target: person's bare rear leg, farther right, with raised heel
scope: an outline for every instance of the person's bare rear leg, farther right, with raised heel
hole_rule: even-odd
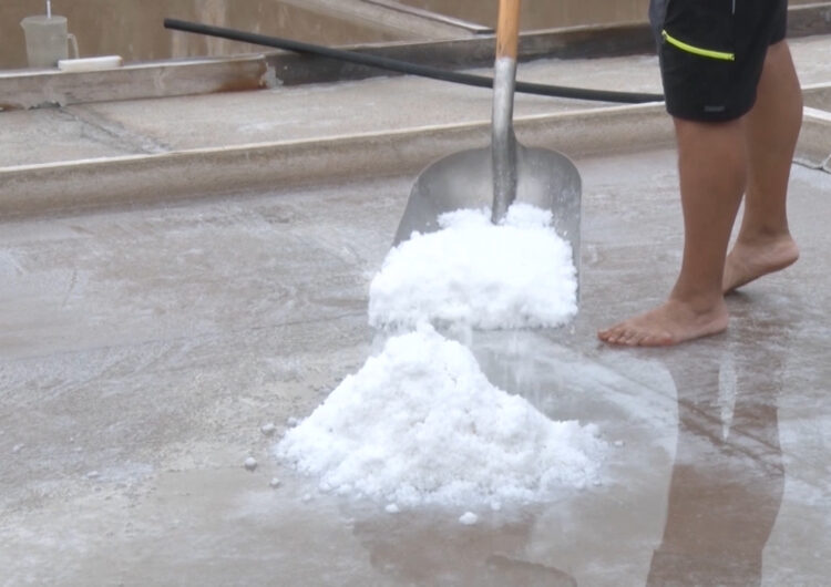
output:
[[[786,199],[802,124],[802,93],[784,41],[768,49],[757,102],[746,120],[748,190],[741,228],[725,265],[725,292],[799,258],[788,230]]]

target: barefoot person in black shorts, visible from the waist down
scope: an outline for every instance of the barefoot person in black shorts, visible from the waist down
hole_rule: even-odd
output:
[[[678,141],[684,256],[665,303],[598,332],[613,344],[666,346],[721,332],[725,291],[799,255],[786,213],[802,114],[784,41],[787,1],[654,0],[650,14]],[[742,194],[745,216],[728,256]]]

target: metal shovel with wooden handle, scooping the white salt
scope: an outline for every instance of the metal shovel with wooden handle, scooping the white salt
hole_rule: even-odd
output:
[[[453,153],[419,175],[394,245],[413,231],[438,230],[438,217],[460,208],[491,205],[491,220],[499,224],[517,200],[552,212],[552,225],[572,245],[579,271],[579,173],[561,153],[521,145],[513,131],[520,2],[500,0],[491,146]]]

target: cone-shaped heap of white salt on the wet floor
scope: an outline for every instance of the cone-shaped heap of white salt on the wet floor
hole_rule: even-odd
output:
[[[339,494],[416,505],[544,501],[594,480],[593,425],[554,422],[493,387],[430,326],[390,338],[276,446]]]

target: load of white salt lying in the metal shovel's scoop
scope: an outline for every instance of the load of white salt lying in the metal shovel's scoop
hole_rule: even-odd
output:
[[[388,254],[370,285],[371,326],[546,328],[577,312],[572,248],[550,210],[514,204],[496,226],[486,209],[462,209],[439,223],[443,229],[416,233]]]

